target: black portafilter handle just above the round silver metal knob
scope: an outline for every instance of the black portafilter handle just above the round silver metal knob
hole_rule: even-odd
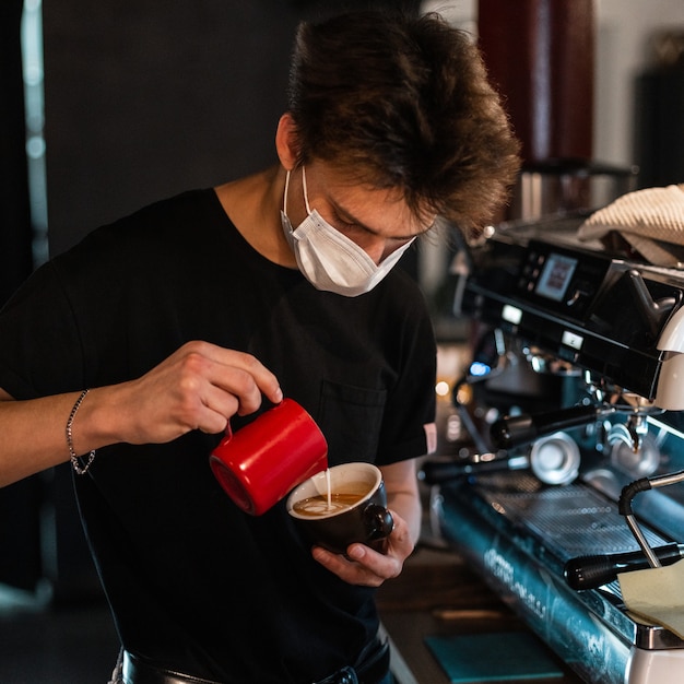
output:
[[[529,444],[542,435],[551,435],[570,427],[587,425],[610,412],[612,409],[589,404],[534,415],[506,416],[492,424],[490,436],[494,448],[512,449]]]

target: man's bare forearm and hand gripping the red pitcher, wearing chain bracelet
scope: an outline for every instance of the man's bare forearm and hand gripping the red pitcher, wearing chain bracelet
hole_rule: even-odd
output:
[[[0,486],[69,460],[67,421],[80,393],[14,401],[0,389]],[[73,417],[73,449],[217,434],[235,413],[253,413],[262,393],[282,399],[278,379],[253,356],[188,342],[141,378],[92,389]]]

